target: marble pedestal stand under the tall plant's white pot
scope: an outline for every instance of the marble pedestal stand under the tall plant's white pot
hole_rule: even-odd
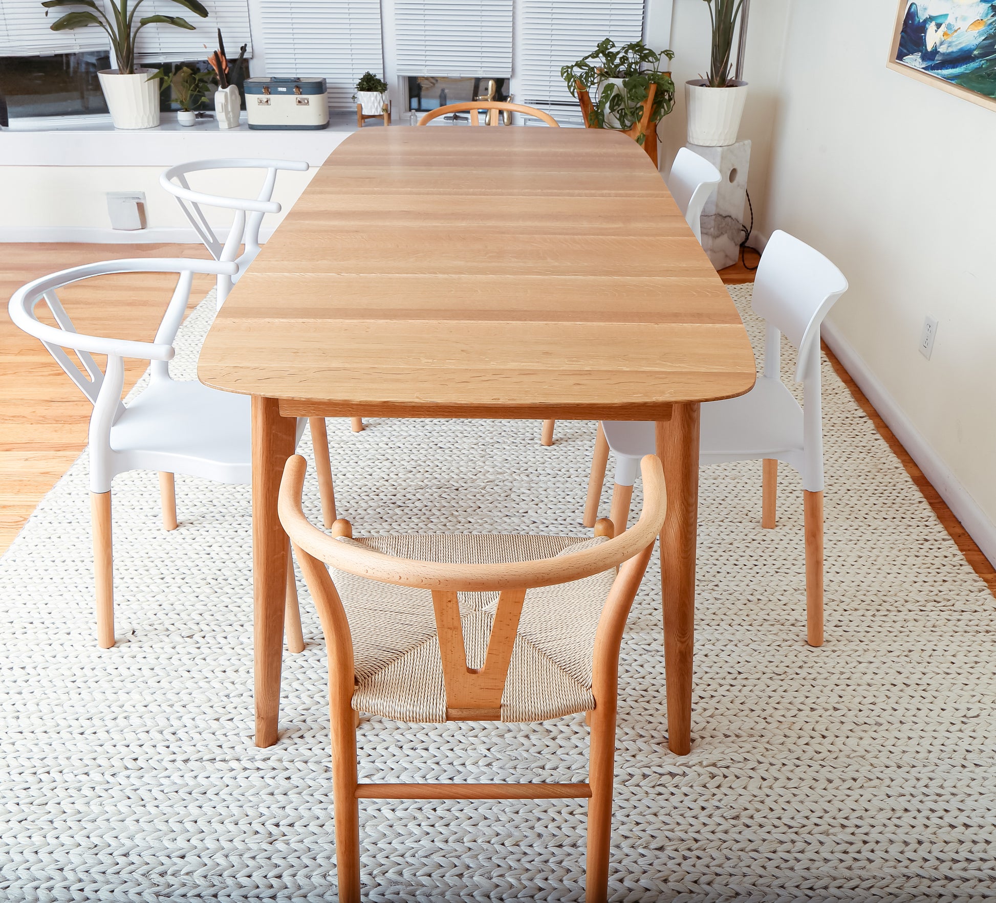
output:
[[[743,241],[744,204],[747,201],[747,171],[750,141],[723,147],[687,144],[689,150],[715,166],[722,180],[702,210],[702,248],[717,270],[731,267],[740,257]]]

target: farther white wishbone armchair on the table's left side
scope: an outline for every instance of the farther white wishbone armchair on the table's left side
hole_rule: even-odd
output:
[[[194,191],[187,181],[187,176],[191,173],[213,173],[219,169],[265,169],[266,176],[263,179],[263,186],[255,198],[227,197],[223,194]],[[232,286],[239,281],[249,264],[256,259],[262,250],[259,243],[259,229],[263,223],[263,217],[267,213],[279,213],[281,210],[279,202],[273,200],[273,188],[277,182],[277,172],[282,169],[307,172],[309,166],[304,160],[260,160],[232,157],[218,160],[193,160],[178,166],[170,166],[159,175],[159,184],[163,190],[176,198],[176,203],[180,205],[183,215],[189,220],[211,257],[223,262],[232,261],[238,267],[234,275],[227,273],[218,275],[218,290],[215,301],[219,311],[232,291]],[[218,238],[217,233],[208,222],[201,205],[235,211],[228,236],[224,242]],[[241,253],[240,249],[242,249]],[[317,421],[320,418],[312,417],[311,419],[312,438],[318,442],[319,433],[325,435],[325,422],[323,420],[319,425]],[[353,432],[359,433],[363,430],[362,417],[352,417],[350,422]]]

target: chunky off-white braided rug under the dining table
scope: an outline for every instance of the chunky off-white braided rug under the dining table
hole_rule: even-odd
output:
[[[732,291],[757,341],[750,288]],[[179,376],[213,309],[184,325]],[[763,531],[760,462],[703,469],[693,748],[665,746],[655,556],[622,643],[612,899],[996,898],[993,597],[826,361],[823,379],[827,643],[805,643],[796,475],[782,468]],[[355,435],[332,420],[339,510],[358,535],[584,536],[594,435],[560,422],[543,448],[538,422],[373,419]],[[285,654],[281,739],[258,750],[248,488],[177,478],[166,533],[155,474],[115,481],[119,642],[100,650],[86,473],[82,458],[0,562],[0,896],[335,899],[325,652],[304,583],[308,648]],[[320,523],[314,470],[308,492]],[[582,716],[365,718],[359,743],[366,781],[586,774]],[[365,894],[580,900],[585,811],[364,800]]]

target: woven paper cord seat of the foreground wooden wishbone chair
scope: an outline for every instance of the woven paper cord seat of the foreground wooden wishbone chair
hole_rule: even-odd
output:
[[[384,555],[429,562],[500,564],[568,555],[604,543],[552,536],[436,534],[349,540]],[[393,586],[332,569],[354,637],[353,708],[395,721],[444,722],[446,691],[432,598],[426,589]],[[592,650],[616,568],[530,589],[512,648],[501,700],[502,721],[544,721],[588,711]],[[497,592],[461,592],[467,663],[482,667]]]

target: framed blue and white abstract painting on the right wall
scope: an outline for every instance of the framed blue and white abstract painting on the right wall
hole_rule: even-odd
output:
[[[996,2],[899,0],[887,65],[996,110]]]

